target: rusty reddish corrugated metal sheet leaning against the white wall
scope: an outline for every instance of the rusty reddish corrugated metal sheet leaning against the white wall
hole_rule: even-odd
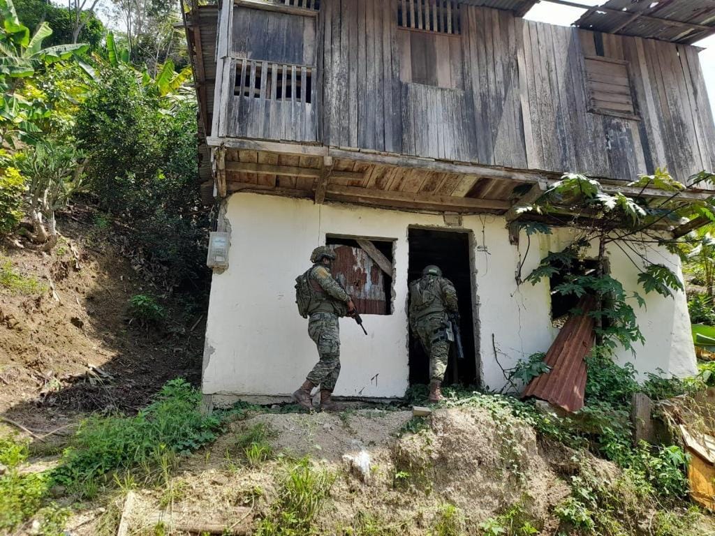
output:
[[[546,400],[569,412],[581,410],[586,391],[586,362],[583,359],[591,352],[594,339],[593,318],[585,313],[594,307],[595,298],[581,299],[578,309],[584,314],[568,319],[546,352],[544,362],[551,367],[551,372],[531,380],[523,397]]]

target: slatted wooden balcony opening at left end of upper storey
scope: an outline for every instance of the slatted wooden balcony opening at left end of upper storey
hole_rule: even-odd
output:
[[[235,96],[272,101],[312,102],[312,68],[239,60],[236,66]]]

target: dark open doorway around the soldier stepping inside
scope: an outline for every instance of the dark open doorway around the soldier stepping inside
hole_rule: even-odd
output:
[[[456,358],[454,344],[452,344],[445,384],[476,385],[478,367],[475,356],[473,312],[475,294],[472,289],[470,234],[457,231],[409,229],[408,242],[410,283],[422,277],[425,266],[436,264],[442,269],[444,277],[450,279],[457,289],[464,359]],[[429,363],[429,357],[425,354],[422,344],[410,334],[410,385],[429,383]]]

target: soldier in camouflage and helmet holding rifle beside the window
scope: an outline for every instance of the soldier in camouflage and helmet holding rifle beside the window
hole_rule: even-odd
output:
[[[335,402],[330,397],[340,374],[340,325],[337,319],[355,312],[352,299],[330,274],[334,259],[335,252],[329,247],[317,247],[310,255],[313,267],[307,277],[313,299],[308,307],[308,335],[317,346],[320,360],[307,375],[305,383],[293,393],[293,399],[306,409],[312,408],[310,392],[320,385],[320,408],[335,410]]]

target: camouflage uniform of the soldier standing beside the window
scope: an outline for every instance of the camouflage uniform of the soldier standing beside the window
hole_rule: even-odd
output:
[[[340,324],[337,319],[347,313],[350,296],[332,278],[325,264],[312,267],[309,281],[315,300],[308,309],[308,335],[317,346],[320,361],[307,375],[307,380],[332,392],[340,374]]]

